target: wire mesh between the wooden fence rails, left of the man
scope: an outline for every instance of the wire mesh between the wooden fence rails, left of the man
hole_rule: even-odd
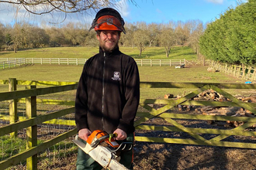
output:
[[[48,96],[49,97],[49,96]],[[19,121],[25,121],[26,118],[26,104],[23,100],[18,101],[17,114]],[[56,105],[56,104],[36,104],[36,114],[44,115],[50,114],[54,111],[63,110],[71,106]],[[37,124],[37,144],[48,141],[59,134],[64,134],[75,128],[74,125],[64,125],[61,121],[74,121],[74,113],[67,114],[62,117],[58,117],[54,122],[44,122],[43,124]],[[9,102],[0,102],[0,128],[5,125],[9,125]],[[26,128],[17,132],[17,138],[10,138],[9,134],[0,137],[0,162],[17,155],[26,150]],[[57,143],[38,155],[38,169],[55,169],[60,168],[60,165],[67,158],[76,158],[77,147],[71,141],[73,138],[66,139]],[[72,155],[72,156],[71,156]],[[74,162],[75,163],[75,162]],[[73,164],[74,167],[74,164]],[[1,168],[0,168],[1,169]],[[20,162],[19,165],[12,166],[8,169],[26,169],[26,160]]]

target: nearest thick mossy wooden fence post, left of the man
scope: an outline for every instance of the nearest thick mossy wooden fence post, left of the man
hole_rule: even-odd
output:
[[[26,86],[26,89],[35,89],[36,86]],[[36,96],[26,97],[26,117],[36,117]],[[37,126],[26,128],[26,148],[33,148],[37,145]],[[26,169],[37,169],[37,154],[26,159]]]

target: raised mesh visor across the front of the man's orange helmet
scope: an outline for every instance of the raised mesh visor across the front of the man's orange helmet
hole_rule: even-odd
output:
[[[112,15],[103,15],[99,17],[96,22],[92,23],[92,27],[89,29],[89,31],[91,29],[95,29],[95,31],[114,30],[123,32],[124,34],[126,33],[122,22],[120,22],[119,19],[116,19],[116,17]]]

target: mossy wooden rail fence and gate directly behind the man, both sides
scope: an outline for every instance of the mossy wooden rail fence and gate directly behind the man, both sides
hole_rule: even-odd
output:
[[[74,127],[70,131],[57,135],[57,137],[45,141],[40,145],[37,145],[37,124],[66,124],[75,125],[73,120],[60,120],[58,117],[62,117],[66,114],[74,113],[74,101],[67,100],[48,100],[37,99],[36,97],[41,95],[48,95],[52,93],[61,93],[69,90],[76,90],[76,82],[43,82],[43,81],[25,81],[25,80],[0,80],[0,84],[9,84],[9,91],[0,93],[0,102],[9,102],[9,115],[1,115],[0,119],[6,120],[9,124],[0,128],[0,137],[4,135],[10,135],[12,138],[16,138],[16,133],[20,129],[26,129],[26,150],[19,152],[17,155],[13,155],[10,158],[6,158],[0,162],[1,168],[9,168],[12,165],[16,165],[22,160],[26,159],[27,169],[36,169],[37,154],[46,150],[51,145],[57,144],[66,138],[74,137],[77,133]],[[26,90],[17,90],[17,85],[26,86]],[[36,86],[47,87],[36,88]],[[48,87],[50,86],[50,87]],[[178,99],[140,99],[140,109],[137,112],[136,121],[134,125],[140,133],[136,134],[135,140],[141,142],[157,142],[157,143],[170,143],[170,144],[182,144],[182,145],[209,145],[220,147],[232,147],[232,148],[256,148],[255,140],[247,141],[230,141],[227,140],[230,136],[243,136],[245,138],[256,137],[255,131],[248,131],[256,124],[256,104],[241,101],[227,93],[230,89],[244,89],[254,90],[256,84],[242,84],[242,83],[173,83],[173,82],[141,82],[141,88],[167,88],[167,89],[195,89],[191,93],[188,93],[184,97]],[[226,97],[227,101],[200,101],[193,100],[199,93],[204,90],[214,90],[216,93],[220,93],[223,97]],[[25,98],[25,99],[24,99]],[[17,103],[26,103],[26,117],[17,116]],[[62,104],[69,105],[70,107],[63,110],[58,110],[48,114],[37,115],[36,104]],[[232,116],[213,116],[202,114],[188,114],[174,112],[178,105],[190,105],[190,106],[213,106],[213,107],[241,107],[251,112],[252,117],[232,117]],[[157,107],[155,107],[157,106]],[[166,124],[150,124],[150,120],[154,118],[161,118]],[[180,120],[186,121],[242,121],[244,124],[237,128],[223,128],[218,129],[211,128],[190,128],[180,123]],[[156,137],[149,136],[147,132],[157,131],[161,133],[185,133],[188,134],[188,138],[169,138],[169,137]],[[206,136],[206,134],[209,134]]]

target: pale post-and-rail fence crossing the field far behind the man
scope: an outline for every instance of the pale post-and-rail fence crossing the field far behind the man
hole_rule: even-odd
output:
[[[82,66],[86,60],[74,58],[0,58],[0,70],[34,64]],[[182,68],[185,66],[203,65],[209,66],[208,71],[220,71],[243,80],[256,80],[256,71],[254,71],[253,66],[228,65],[227,63],[218,63],[209,59],[135,59],[135,61],[138,66],[175,66],[175,68]]]

